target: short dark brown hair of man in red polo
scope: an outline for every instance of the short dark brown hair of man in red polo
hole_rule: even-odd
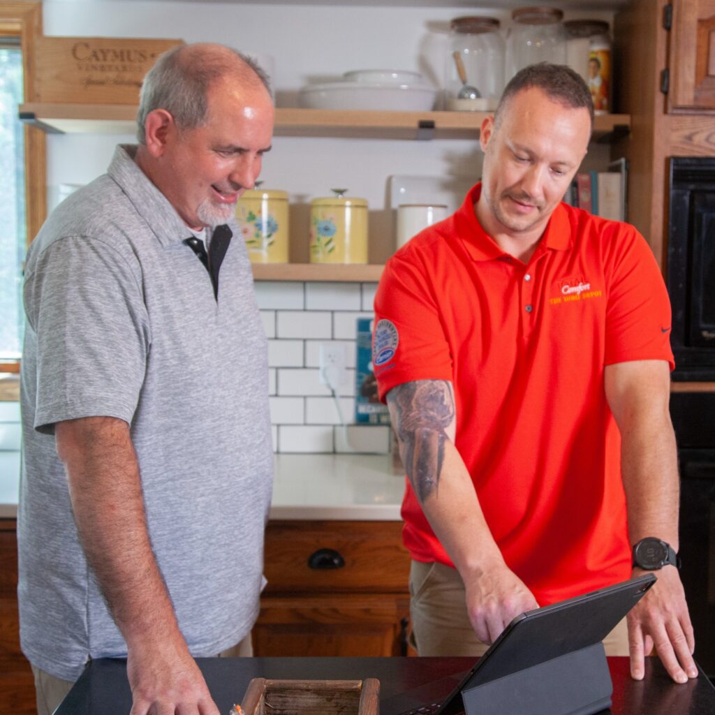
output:
[[[588,109],[593,127],[593,99],[588,84],[578,72],[565,64],[539,62],[520,69],[509,81],[494,112],[494,126],[498,127],[509,100],[522,89],[541,89],[556,102],[572,109]]]

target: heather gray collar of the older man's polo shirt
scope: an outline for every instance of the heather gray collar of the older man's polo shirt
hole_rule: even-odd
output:
[[[137,213],[157,237],[159,244],[167,247],[181,243],[191,235],[189,227],[169,203],[169,199],[152,184],[142,169],[139,169],[134,162],[136,154],[136,144],[119,144],[114,150],[107,174],[127,195]]]

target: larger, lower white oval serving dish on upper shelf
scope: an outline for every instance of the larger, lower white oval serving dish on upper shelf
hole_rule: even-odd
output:
[[[426,85],[327,82],[300,90],[298,102],[308,109],[391,109],[428,112],[437,90]]]

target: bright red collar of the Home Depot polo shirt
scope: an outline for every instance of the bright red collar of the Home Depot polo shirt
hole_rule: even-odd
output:
[[[479,182],[473,186],[461,207],[455,212],[455,233],[458,235],[467,249],[472,260],[488,261],[506,256],[495,240],[482,228],[475,204],[482,191],[482,184]],[[566,250],[571,245],[571,222],[568,220],[568,213],[563,204],[558,204],[554,209],[551,218],[548,220],[546,230],[539,241],[537,250]]]

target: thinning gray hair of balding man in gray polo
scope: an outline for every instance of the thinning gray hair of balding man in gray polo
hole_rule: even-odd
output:
[[[245,65],[247,73],[242,72]],[[173,47],[157,59],[139,92],[137,139],[147,143],[144,122],[154,109],[165,109],[179,130],[201,127],[207,118],[207,92],[218,80],[234,74],[250,82],[250,74],[271,92],[270,79],[250,56],[230,47],[194,44]]]

